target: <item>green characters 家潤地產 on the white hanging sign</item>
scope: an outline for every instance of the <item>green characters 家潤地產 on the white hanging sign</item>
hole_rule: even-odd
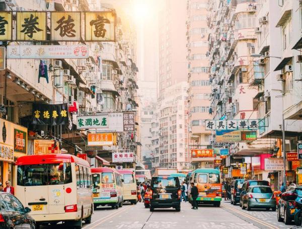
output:
[[[77,129],[108,128],[108,114],[77,116]]]

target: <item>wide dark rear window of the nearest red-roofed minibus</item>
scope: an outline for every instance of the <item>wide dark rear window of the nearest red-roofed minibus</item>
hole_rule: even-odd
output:
[[[71,182],[70,163],[18,166],[17,184],[20,186],[63,185]]]

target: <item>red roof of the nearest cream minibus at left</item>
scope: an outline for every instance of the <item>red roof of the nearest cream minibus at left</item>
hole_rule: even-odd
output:
[[[57,163],[77,163],[90,168],[90,164],[81,158],[70,154],[44,154],[44,155],[28,155],[17,159],[17,166],[39,165],[39,164],[57,164]]]

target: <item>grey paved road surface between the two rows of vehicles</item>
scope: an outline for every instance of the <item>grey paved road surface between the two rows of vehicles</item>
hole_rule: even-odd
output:
[[[266,210],[242,210],[239,205],[233,206],[223,201],[219,208],[199,206],[192,210],[189,203],[182,203],[181,211],[159,209],[150,212],[142,203],[124,205],[114,209],[102,207],[95,211],[91,224],[85,229],[123,229],[123,228],[290,228],[277,221],[276,212]],[[63,226],[43,226],[43,229],[59,229]]]

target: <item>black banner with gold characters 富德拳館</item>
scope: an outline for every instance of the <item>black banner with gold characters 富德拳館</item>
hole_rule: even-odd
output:
[[[68,123],[67,103],[33,104],[34,125],[65,125]]]

